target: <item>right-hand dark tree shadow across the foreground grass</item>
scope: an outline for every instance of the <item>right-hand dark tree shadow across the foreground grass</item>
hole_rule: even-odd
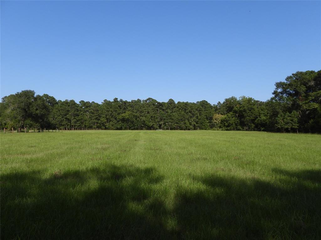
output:
[[[272,184],[255,178],[195,177],[204,188],[181,189],[176,196],[174,212],[181,237],[320,239],[321,171],[286,173],[301,180],[281,176]]]

